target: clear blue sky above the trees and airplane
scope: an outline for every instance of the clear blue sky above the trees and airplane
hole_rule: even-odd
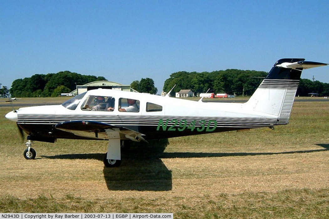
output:
[[[0,83],[71,71],[158,93],[177,71],[329,63],[329,1],[0,0]],[[302,78],[329,83],[329,67]]]

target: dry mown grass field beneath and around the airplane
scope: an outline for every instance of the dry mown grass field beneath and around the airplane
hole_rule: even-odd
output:
[[[23,158],[0,108],[0,212],[173,212],[174,218],[329,218],[329,102],[295,102],[290,124],[134,144],[34,142]]]

